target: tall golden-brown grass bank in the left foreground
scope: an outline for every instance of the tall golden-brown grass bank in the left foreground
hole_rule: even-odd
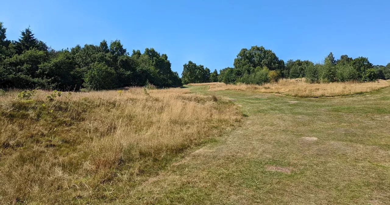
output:
[[[0,201],[69,203],[137,183],[241,119],[237,107],[187,89],[0,96]],[[128,185],[127,185],[128,186]],[[112,190],[111,190],[112,191]]]

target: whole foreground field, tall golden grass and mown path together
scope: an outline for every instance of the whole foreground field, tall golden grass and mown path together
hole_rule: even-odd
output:
[[[296,98],[212,86],[0,97],[0,201],[390,204],[390,87]]]

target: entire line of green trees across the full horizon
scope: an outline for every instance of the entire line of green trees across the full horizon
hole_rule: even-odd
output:
[[[189,61],[183,65],[182,77],[173,72],[166,54],[153,48],[129,54],[120,40],[108,44],[76,45],[54,50],[34,37],[27,28],[20,39],[6,38],[0,22],[0,88],[79,90],[113,89],[126,86],[179,87],[188,83],[224,82],[263,84],[279,78],[306,78],[309,83],[373,81],[390,79],[390,63],[374,66],[366,57],[355,59],[342,55],[335,60],[332,53],[321,63],[279,59],[263,46],[243,48],[233,67],[218,73]]]

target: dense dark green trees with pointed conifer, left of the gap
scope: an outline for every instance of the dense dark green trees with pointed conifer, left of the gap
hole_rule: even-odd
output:
[[[99,45],[54,50],[35,38],[30,28],[18,41],[8,40],[0,22],[0,87],[99,90],[147,82],[157,87],[182,85],[168,56],[153,48],[143,53],[133,50],[130,55],[120,40],[110,44],[103,40]]]

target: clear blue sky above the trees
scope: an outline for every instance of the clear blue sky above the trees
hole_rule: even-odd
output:
[[[0,21],[16,40],[30,25],[57,50],[119,39],[131,52],[167,53],[181,74],[193,61],[212,71],[232,66],[241,48],[273,50],[280,59],[321,61],[365,56],[390,62],[388,0],[2,1]]]

